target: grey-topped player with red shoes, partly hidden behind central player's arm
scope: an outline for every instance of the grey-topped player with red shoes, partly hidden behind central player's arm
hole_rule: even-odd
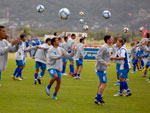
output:
[[[76,35],[75,34],[72,34],[71,37],[68,39],[67,41],[67,50],[68,50],[68,53],[71,53],[72,52],[72,48],[74,46],[74,40],[76,39]],[[70,58],[69,59],[70,61],[70,75],[74,76],[74,60],[73,58]]]

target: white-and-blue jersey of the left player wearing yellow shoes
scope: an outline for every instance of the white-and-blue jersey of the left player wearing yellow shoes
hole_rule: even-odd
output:
[[[24,60],[25,59],[25,48],[26,48],[26,44],[23,41],[20,41],[19,43],[19,49],[16,52],[16,60]]]

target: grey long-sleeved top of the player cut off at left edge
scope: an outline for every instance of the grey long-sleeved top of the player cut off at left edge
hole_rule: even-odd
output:
[[[7,40],[0,40],[0,72],[5,71],[8,62],[8,52],[16,52],[18,46],[12,46]]]

